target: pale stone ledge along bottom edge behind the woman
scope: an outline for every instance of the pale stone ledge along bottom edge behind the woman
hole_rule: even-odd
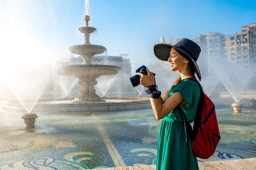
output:
[[[256,169],[256,158],[199,162],[200,170],[241,170]],[[156,165],[100,168],[93,170],[155,170]]]

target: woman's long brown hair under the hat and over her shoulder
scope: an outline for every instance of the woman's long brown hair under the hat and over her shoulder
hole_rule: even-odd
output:
[[[190,71],[191,73],[194,75],[196,73],[196,69],[194,67],[194,64],[192,62],[192,60],[190,59],[190,57],[188,57],[186,54],[184,54],[183,52],[179,51],[179,50],[176,50],[180,55],[182,55],[183,57],[185,57],[188,61],[189,61],[189,68],[190,68]],[[173,85],[177,85],[179,82],[181,81],[181,77],[180,75],[178,76],[178,78],[175,80],[175,82],[173,83]],[[169,93],[170,93],[170,90],[167,90],[167,91],[164,91],[163,92],[163,95],[162,95],[162,104],[168,99],[168,96],[169,96]]]

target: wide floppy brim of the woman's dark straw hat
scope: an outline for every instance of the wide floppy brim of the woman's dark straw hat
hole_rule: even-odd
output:
[[[172,48],[175,48],[175,49],[179,50],[180,52],[184,53],[185,55],[187,55],[191,59],[191,61],[194,64],[194,67],[195,67],[195,70],[196,70],[196,73],[197,73],[197,77],[198,77],[199,81],[201,81],[201,73],[199,71],[199,67],[197,65],[197,62],[194,61],[194,59],[190,56],[190,54],[188,54],[184,50],[180,49],[179,47],[174,46],[174,45],[170,45],[170,44],[166,44],[166,43],[156,44],[156,45],[154,45],[154,54],[159,60],[168,61]]]

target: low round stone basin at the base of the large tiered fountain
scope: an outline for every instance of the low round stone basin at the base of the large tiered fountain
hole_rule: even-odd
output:
[[[149,98],[123,97],[104,98],[104,102],[72,102],[72,100],[39,101],[33,108],[33,113],[87,113],[115,112],[151,108]],[[3,109],[15,112],[26,112],[19,102],[9,102]]]

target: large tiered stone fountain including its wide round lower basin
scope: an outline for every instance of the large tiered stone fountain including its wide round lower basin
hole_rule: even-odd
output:
[[[89,1],[87,2],[89,3]],[[86,14],[88,14],[87,7],[88,6],[86,4]],[[85,27],[79,28],[78,31],[84,34],[85,43],[82,45],[74,45],[69,47],[69,51],[71,53],[78,54],[83,57],[83,64],[57,66],[55,69],[55,71],[60,76],[72,76],[78,78],[78,84],[81,85],[80,93],[73,100],[68,100],[67,98],[58,100],[40,100],[35,103],[33,107],[31,107],[30,111],[33,111],[33,113],[92,113],[150,108],[151,105],[148,98],[101,98],[96,94],[96,91],[94,89],[94,86],[97,85],[96,79],[100,76],[117,74],[118,70],[120,70],[121,68],[113,65],[92,64],[92,57],[94,55],[104,53],[104,51],[106,51],[106,48],[99,45],[91,45],[90,33],[93,33],[94,31],[96,31],[96,29],[93,27],[89,27],[89,15],[85,15],[84,20]],[[128,81],[129,77],[127,77],[127,82]],[[70,84],[70,86],[73,85]],[[105,86],[107,86],[107,83],[105,83]],[[4,106],[4,109],[23,112],[25,104],[21,105],[18,102],[9,102],[6,106]]]

